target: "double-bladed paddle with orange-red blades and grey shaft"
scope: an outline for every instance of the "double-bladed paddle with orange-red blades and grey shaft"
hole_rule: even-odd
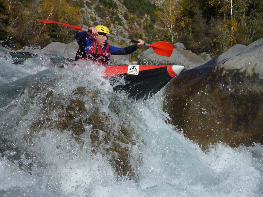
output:
[[[55,24],[60,24],[60,25],[66,25],[66,26],[68,26],[70,28],[77,29],[79,31],[91,32],[90,29],[85,29],[85,28],[82,28],[82,27],[78,27],[78,26],[75,26],[75,25],[69,25],[69,24],[66,24],[66,23],[60,23],[60,22],[57,22],[57,21],[54,21],[54,20],[39,20],[39,21],[42,22],[42,23],[55,23]],[[119,36],[116,36],[116,35],[106,34],[104,32],[98,32],[98,34],[105,35],[105,36],[112,37],[112,38],[116,38],[116,39],[119,39],[119,40],[128,41],[128,42],[139,43],[137,40],[131,40],[131,39],[128,39],[128,38],[122,38],[122,37],[119,37]],[[157,53],[158,55],[166,56],[166,57],[170,57],[171,54],[173,53],[173,49],[174,49],[174,45],[172,45],[170,43],[167,43],[167,42],[163,42],[163,41],[159,41],[159,42],[156,42],[154,44],[147,44],[147,43],[145,43],[144,45],[152,47],[155,53]]]

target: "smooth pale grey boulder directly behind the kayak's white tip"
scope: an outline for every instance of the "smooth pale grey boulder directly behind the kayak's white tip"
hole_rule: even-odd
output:
[[[185,68],[190,67],[190,61],[178,50],[173,50],[170,57],[156,54],[152,48],[147,49],[138,59],[138,64],[147,65],[182,65]]]

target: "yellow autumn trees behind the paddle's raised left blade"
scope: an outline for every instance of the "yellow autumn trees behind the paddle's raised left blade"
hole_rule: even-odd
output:
[[[63,25],[44,25],[39,19],[59,20],[80,24],[80,9],[66,0],[46,0],[22,4],[14,0],[0,0],[0,32],[2,45],[9,47],[40,45],[52,41],[64,42],[74,37],[75,31]]]

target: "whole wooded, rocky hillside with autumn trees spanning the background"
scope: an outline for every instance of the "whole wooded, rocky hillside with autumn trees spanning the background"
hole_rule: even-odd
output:
[[[217,55],[262,38],[262,13],[262,0],[0,0],[0,40],[16,49],[72,42],[77,30],[38,21],[52,19],[86,28],[102,24],[117,36],[182,42],[197,54]]]

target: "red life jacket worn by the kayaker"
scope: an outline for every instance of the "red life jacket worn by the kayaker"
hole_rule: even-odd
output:
[[[87,52],[87,54],[84,52],[84,49],[79,48],[75,60],[90,59],[98,63],[107,64],[110,60],[110,45],[106,43],[106,49],[103,52],[97,39],[92,38],[92,36],[89,36],[88,38],[92,40],[93,47]]]

